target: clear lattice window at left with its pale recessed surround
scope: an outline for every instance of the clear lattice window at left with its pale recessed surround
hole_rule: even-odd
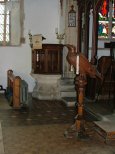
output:
[[[0,46],[19,46],[23,37],[24,0],[0,0]]]

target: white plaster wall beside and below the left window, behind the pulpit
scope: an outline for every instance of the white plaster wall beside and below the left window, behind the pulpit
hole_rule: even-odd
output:
[[[57,43],[55,28],[58,23],[59,0],[24,0],[25,21],[24,36],[26,43],[20,47],[0,47],[0,84],[7,86],[7,70],[14,70],[29,85],[33,91],[34,79],[31,77],[31,49],[28,32],[43,34],[46,40],[43,43]]]

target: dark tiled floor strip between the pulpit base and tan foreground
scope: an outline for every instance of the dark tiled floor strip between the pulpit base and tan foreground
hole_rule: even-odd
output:
[[[0,110],[2,126],[29,126],[41,124],[66,124],[74,122],[74,108],[66,108],[61,101],[32,100],[28,108]]]

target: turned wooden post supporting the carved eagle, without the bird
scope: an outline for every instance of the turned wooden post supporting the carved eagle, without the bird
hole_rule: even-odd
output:
[[[87,84],[86,75],[80,74],[75,78],[76,92],[78,95],[78,108],[77,108],[77,117],[75,121],[75,127],[77,131],[78,137],[83,137],[85,134],[85,126],[84,126],[84,93],[85,86]]]

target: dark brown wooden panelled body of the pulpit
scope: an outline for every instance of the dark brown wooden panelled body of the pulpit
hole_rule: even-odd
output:
[[[42,49],[32,51],[32,73],[61,74],[62,73],[61,44],[43,44]]]

